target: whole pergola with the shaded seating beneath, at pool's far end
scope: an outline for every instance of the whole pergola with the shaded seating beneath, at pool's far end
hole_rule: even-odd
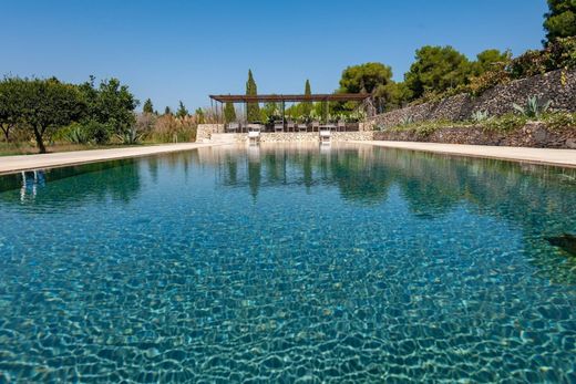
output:
[[[369,110],[370,103],[370,94],[366,93],[335,93],[335,94],[268,94],[268,95],[210,95],[210,102],[216,102],[216,116],[218,122],[225,124],[224,132],[225,133],[248,133],[257,129],[258,132],[271,132],[271,133],[306,133],[306,132],[315,132],[319,133],[320,131],[325,132],[354,132],[359,131],[359,122],[358,121],[344,121],[341,116],[337,118],[329,117],[329,103],[335,102],[357,102],[358,107],[364,107],[364,110]],[[325,114],[322,118],[312,118],[312,116],[302,116],[302,118],[292,118],[286,116],[286,103],[312,103],[321,102],[323,103]],[[224,104],[233,103],[240,104],[244,106],[244,113],[240,114],[241,118],[236,122],[224,121]],[[260,121],[247,121],[247,110],[250,104],[260,104],[260,103],[277,103],[280,105],[280,116],[275,116],[277,118],[260,122]],[[318,117],[318,114],[317,116]]]

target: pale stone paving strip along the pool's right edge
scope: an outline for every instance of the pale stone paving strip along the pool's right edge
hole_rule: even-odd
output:
[[[354,144],[408,151],[429,152],[459,157],[493,158],[498,160],[576,168],[576,149],[532,148],[422,142],[354,141]]]

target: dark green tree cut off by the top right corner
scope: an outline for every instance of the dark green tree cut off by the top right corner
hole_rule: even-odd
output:
[[[548,0],[544,29],[548,42],[576,35],[576,0]]]

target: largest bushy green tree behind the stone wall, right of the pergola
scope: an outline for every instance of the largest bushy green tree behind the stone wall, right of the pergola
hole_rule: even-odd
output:
[[[471,63],[465,55],[450,45],[425,45],[416,50],[415,62],[404,74],[404,81],[412,96],[424,93],[440,93],[467,82]]]

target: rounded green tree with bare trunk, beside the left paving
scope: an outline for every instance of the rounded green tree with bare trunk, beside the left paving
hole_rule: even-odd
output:
[[[18,115],[22,126],[34,135],[40,153],[45,153],[49,129],[68,125],[82,117],[85,104],[78,86],[56,79],[12,79],[17,89]]]

